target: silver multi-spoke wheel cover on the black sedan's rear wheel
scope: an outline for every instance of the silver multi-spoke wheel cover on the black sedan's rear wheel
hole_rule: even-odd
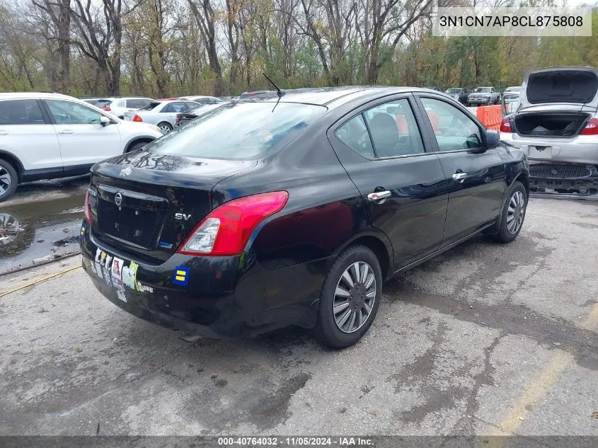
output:
[[[376,276],[367,263],[353,263],[336,285],[333,315],[336,326],[344,333],[359,330],[372,314],[376,299]]]

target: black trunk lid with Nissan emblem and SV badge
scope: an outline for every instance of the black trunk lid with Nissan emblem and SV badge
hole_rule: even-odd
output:
[[[212,188],[256,161],[139,151],[93,167],[94,236],[154,262],[167,260],[212,211]]]

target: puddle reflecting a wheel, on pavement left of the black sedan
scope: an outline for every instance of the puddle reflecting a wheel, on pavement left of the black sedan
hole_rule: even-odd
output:
[[[67,197],[0,204],[0,274],[33,260],[79,250],[84,192]]]

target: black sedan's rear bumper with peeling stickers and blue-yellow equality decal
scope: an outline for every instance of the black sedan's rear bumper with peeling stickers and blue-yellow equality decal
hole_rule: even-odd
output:
[[[318,272],[325,260],[270,271],[246,253],[176,254],[151,265],[97,241],[85,222],[81,229],[83,267],[93,285],[113,304],[146,321],[210,338],[314,326],[323,284]]]

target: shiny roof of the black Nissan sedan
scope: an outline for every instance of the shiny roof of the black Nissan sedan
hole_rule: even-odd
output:
[[[284,95],[280,98],[281,103],[305,103],[314,105],[324,105],[328,108],[333,108],[335,105],[340,105],[345,99],[361,98],[364,96],[380,96],[392,95],[393,93],[409,93],[409,92],[430,92],[439,93],[427,88],[420,87],[395,87],[395,86],[344,86],[344,87],[322,87],[322,88],[297,88],[284,91]],[[268,91],[270,95],[241,98],[239,103],[263,103],[276,102],[278,100],[276,91]]]

